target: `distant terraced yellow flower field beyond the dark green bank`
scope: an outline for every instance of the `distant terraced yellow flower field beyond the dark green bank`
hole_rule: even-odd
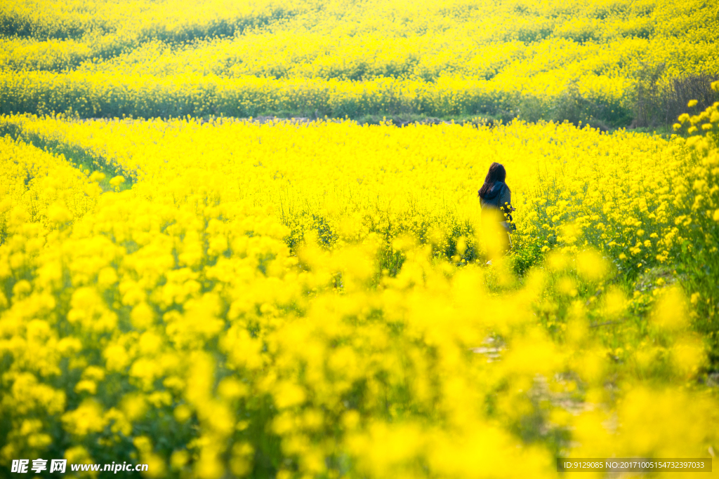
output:
[[[6,2],[0,113],[670,124],[702,100],[685,98],[692,79],[719,79],[718,13],[704,0]]]

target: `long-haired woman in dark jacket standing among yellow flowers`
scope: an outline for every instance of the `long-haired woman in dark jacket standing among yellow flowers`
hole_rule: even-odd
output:
[[[487,233],[487,253],[492,264],[494,256],[500,256],[512,247],[509,232],[513,229],[511,213],[512,192],[506,185],[507,171],[497,162],[490,164],[485,183],[477,192],[482,205],[482,227]]]

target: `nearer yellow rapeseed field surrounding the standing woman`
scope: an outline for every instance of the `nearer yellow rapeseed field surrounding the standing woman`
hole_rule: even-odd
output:
[[[717,115],[670,141],[4,116],[0,465],[526,478],[713,456],[716,297],[680,283],[715,261]],[[492,161],[518,233],[487,267]]]

